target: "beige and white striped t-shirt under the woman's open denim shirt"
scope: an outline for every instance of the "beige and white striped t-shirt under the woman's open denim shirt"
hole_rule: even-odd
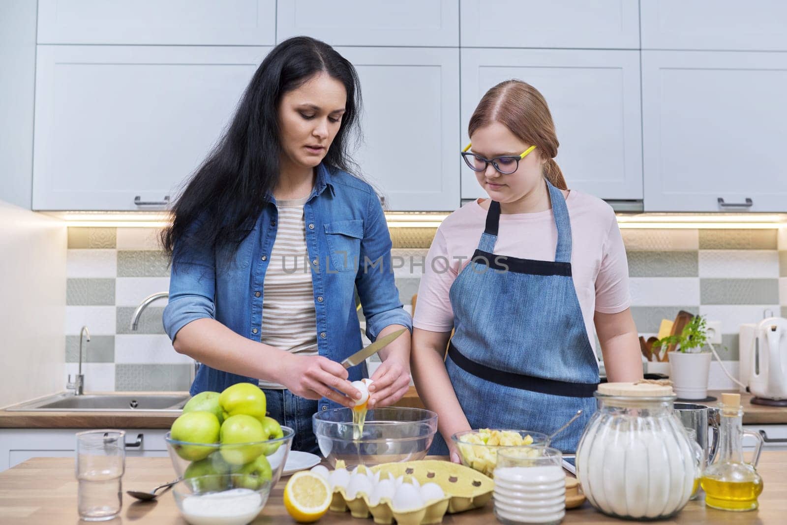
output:
[[[309,198],[278,200],[278,229],[265,272],[261,342],[299,355],[317,355],[312,271],[303,206]],[[260,379],[260,387],[284,388]]]

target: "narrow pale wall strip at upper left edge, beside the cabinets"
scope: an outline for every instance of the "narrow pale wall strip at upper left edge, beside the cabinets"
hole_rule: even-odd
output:
[[[36,2],[0,2],[0,199],[30,209]]]

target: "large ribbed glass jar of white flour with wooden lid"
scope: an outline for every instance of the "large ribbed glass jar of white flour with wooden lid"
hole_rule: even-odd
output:
[[[577,447],[577,476],[593,507],[619,518],[673,516],[701,465],[672,409],[671,386],[602,383]]]

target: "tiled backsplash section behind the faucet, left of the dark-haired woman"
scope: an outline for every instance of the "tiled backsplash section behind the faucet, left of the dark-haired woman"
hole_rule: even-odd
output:
[[[85,390],[188,390],[193,361],[176,353],[164,334],[166,301],[142,313],[137,331],[130,327],[143,298],[169,290],[156,235],[153,228],[68,228],[66,373],[76,373],[85,324],[91,332]]]

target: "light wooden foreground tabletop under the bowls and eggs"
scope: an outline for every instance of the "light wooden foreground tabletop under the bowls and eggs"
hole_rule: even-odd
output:
[[[724,512],[706,508],[704,501],[689,501],[689,505],[673,519],[664,523],[784,523],[787,513],[787,452],[764,452],[759,462],[764,490],[759,497],[759,509],[753,512]],[[175,477],[172,464],[163,457],[128,457],[123,489],[150,490]],[[283,505],[286,478],[275,486],[268,504],[253,523],[295,523]],[[36,457],[14,468],[0,472],[0,523],[49,525],[50,523],[81,523],[76,512],[76,479],[72,458]],[[443,523],[496,523],[493,503],[470,512],[446,515]],[[186,522],[168,492],[155,503],[136,502],[123,494],[120,517],[105,523],[156,523],[158,525]],[[374,523],[370,519],[353,519],[349,512],[328,512],[319,523]],[[587,502],[580,508],[567,511],[563,523],[625,523],[597,512]]]

